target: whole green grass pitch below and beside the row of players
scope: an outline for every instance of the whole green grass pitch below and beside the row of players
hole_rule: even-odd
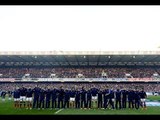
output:
[[[160,96],[150,96],[150,100],[160,100]],[[109,110],[109,109],[58,109],[27,110],[15,109],[13,101],[0,99],[0,115],[160,115],[160,107],[148,107],[147,110]]]

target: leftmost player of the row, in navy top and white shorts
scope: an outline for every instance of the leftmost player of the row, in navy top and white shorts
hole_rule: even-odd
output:
[[[14,92],[13,92],[13,98],[14,98],[14,107],[19,108],[20,106],[20,92],[19,88],[16,87]]]

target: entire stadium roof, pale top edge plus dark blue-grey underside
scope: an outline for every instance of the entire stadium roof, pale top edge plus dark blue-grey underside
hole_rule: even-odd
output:
[[[160,65],[160,51],[0,52],[0,66]]]

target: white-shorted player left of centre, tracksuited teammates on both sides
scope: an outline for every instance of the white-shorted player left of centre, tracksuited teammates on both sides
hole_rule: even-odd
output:
[[[75,108],[75,96],[76,96],[76,91],[75,88],[72,87],[70,90],[70,108]]]

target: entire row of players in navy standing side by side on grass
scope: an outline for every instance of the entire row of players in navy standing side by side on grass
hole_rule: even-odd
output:
[[[21,87],[14,91],[15,107],[27,108],[111,108],[111,109],[124,109],[124,108],[142,108],[146,109],[145,99],[147,95],[142,89],[138,90],[125,90],[125,89],[97,89],[92,87],[86,90],[82,87],[80,90],[77,88],[59,89],[50,87],[43,89],[36,86],[34,89],[27,89]],[[127,104],[128,103],[128,104]]]

